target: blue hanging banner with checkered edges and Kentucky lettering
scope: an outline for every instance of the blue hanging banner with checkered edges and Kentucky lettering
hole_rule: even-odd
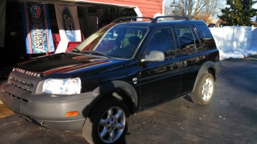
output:
[[[21,3],[27,53],[53,52],[47,4]]]

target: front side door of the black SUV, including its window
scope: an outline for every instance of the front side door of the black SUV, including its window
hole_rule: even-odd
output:
[[[164,99],[171,99],[179,92],[181,83],[180,59],[171,28],[156,30],[146,46],[145,54],[162,51],[164,61],[149,62],[141,69],[140,106],[144,107]]]

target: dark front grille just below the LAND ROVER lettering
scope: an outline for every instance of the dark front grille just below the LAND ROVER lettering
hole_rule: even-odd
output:
[[[26,81],[23,81],[23,80],[14,78],[14,77],[11,77],[9,81],[13,86],[15,86],[19,89],[23,89],[28,92],[32,92],[32,90],[33,90],[33,84],[28,83]]]

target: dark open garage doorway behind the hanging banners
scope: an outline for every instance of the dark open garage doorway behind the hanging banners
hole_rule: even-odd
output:
[[[5,44],[0,47],[0,80],[8,77],[13,66],[28,58],[43,56],[53,53],[27,54],[26,43],[23,28],[21,1],[6,2],[6,25],[5,25]],[[60,1],[58,1],[60,3]],[[26,3],[26,2],[25,2]],[[41,4],[41,1],[29,1],[28,3]],[[44,1],[48,4],[48,13],[51,25],[54,49],[61,40],[56,11],[55,1]],[[94,33],[99,28],[111,23],[114,19],[122,16],[137,16],[134,8],[116,7],[103,4],[87,4],[87,3],[70,3],[62,2],[62,5],[76,5],[78,9],[78,17],[82,40]],[[69,44],[68,48],[74,48],[77,44]]]

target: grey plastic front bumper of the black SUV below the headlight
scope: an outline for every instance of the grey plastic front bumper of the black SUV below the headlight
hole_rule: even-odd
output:
[[[80,130],[94,104],[98,93],[77,95],[35,94],[15,87],[5,81],[0,88],[0,99],[23,118],[49,129],[62,131]],[[78,111],[76,116],[67,112]]]

